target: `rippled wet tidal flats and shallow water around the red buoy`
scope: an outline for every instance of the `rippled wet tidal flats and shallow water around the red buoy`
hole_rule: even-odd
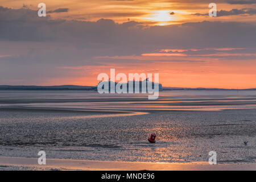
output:
[[[1,91],[0,155],[144,162],[254,162],[255,91]],[[98,113],[97,111],[101,111]],[[156,143],[147,142],[151,133]],[[249,141],[247,146],[243,142]]]

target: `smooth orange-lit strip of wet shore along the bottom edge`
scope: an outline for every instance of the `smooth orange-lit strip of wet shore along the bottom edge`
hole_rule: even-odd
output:
[[[97,160],[47,159],[39,165],[36,158],[14,158],[0,156],[1,170],[86,170],[86,171],[212,171],[212,170],[256,170],[255,163],[232,163],[210,165],[208,162],[192,163],[149,163],[112,162]]]

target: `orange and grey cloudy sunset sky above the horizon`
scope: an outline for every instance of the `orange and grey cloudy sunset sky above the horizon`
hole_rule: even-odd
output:
[[[0,0],[0,85],[97,85],[115,68],[170,87],[256,88],[256,0],[215,1],[217,17],[209,3]]]

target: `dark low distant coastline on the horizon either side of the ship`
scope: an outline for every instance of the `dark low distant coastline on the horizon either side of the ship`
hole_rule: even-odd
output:
[[[0,90],[97,90],[97,86],[80,86],[80,85],[56,85],[56,86],[35,86],[35,85],[0,85]],[[180,88],[164,87],[166,90],[256,90],[250,89],[223,89],[223,88]]]

